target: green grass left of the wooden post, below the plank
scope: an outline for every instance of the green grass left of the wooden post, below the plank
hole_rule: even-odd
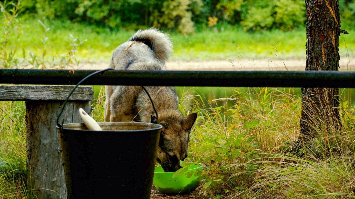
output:
[[[24,102],[0,103],[0,198],[27,197]]]

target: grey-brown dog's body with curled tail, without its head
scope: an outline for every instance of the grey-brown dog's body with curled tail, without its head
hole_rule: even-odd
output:
[[[165,61],[171,53],[172,46],[168,36],[158,29],[138,30],[128,41],[114,50],[110,60],[110,68],[116,70],[165,70]],[[147,90],[154,96],[155,100],[153,101],[158,105],[157,108],[177,108],[173,87],[148,86]],[[150,104],[146,104],[148,97],[142,91],[140,86],[107,86],[105,121],[141,120],[149,122],[146,115],[153,109]],[[163,103],[164,107],[159,106],[161,99],[167,101],[167,103]],[[137,115],[138,113],[140,114]]]

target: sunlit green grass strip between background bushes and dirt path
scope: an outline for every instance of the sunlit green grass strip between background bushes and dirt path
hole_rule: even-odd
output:
[[[70,49],[73,38],[86,42],[78,48],[76,58],[80,61],[109,61],[113,50],[125,42],[134,31],[113,31],[97,28],[92,25],[73,23],[60,20],[43,20],[50,30],[44,35],[37,19],[22,18],[23,32],[18,42],[18,47],[24,49],[24,54],[29,57],[28,51],[42,55],[41,39],[48,37],[46,43],[46,59],[66,54]],[[349,30],[349,35],[354,35],[355,30]],[[346,55],[346,47],[350,56],[355,55],[355,39],[349,35],[342,35],[339,41],[340,56]],[[184,37],[172,33],[174,52],[171,60],[206,60],[206,59],[235,59],[239,56],[245,58],[271,58],[276,54],[279,58],[304,58],[306,54],[306,30],[296,29],[288,32],[280,30],[247,33],[241,28],[229,27],[223,32],[212,29],[196,32]],[[344,42],[346,41],[346,42]],[[10,48],[14,40],[9,41]],[[277,49],[277,52],[274,50]],[[22,50],[17,55],[22,57]]]

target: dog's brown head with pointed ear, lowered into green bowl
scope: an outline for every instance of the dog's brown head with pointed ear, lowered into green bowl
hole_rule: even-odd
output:
[[[163,126],[160,133],[157,161],[165,172],[181,168],[180,160],[187,157],[189,135],[197,114],[191,113],[182,119],[181,113],[165,112],[160,114],[159,124]]]

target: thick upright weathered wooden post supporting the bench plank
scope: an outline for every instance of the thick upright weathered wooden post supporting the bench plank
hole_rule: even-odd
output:
[[[64,101],[26,102],[27,183],[37,198],[67,198],[56,117]],[[78,109],[90,113],[90,101],[69,101],[64,123],[79,123]]]

